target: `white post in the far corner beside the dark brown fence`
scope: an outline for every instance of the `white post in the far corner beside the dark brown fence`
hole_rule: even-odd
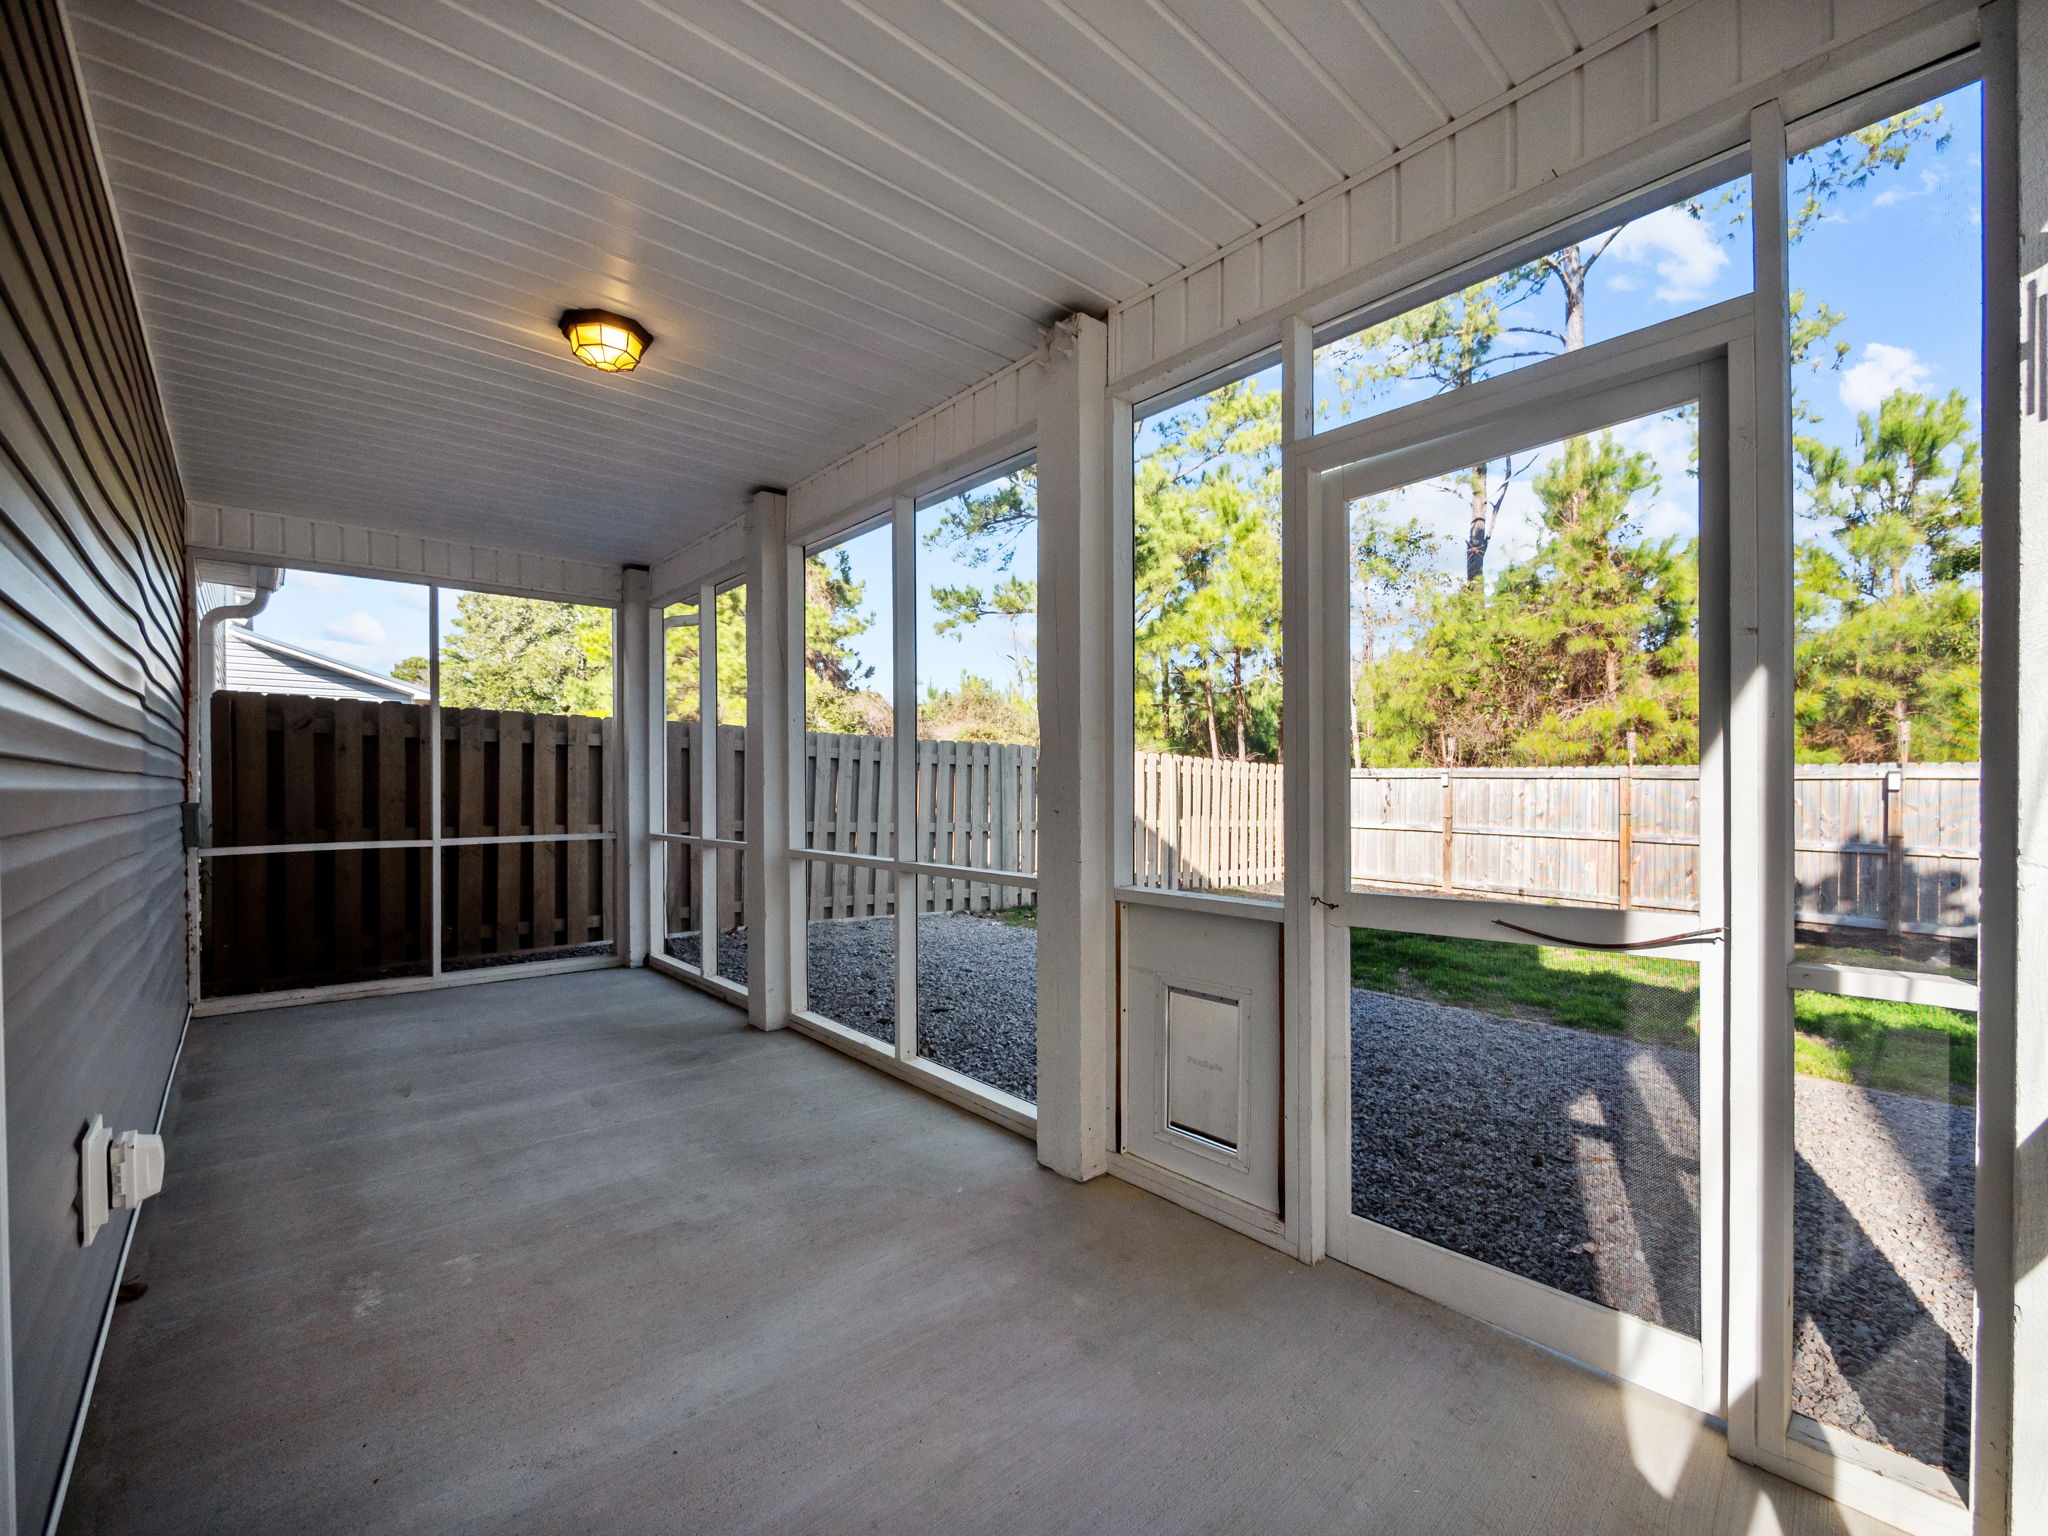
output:
[[[618,913],[612,942],[625,965],[647,965],[653,932],[653,842],[655,784],[662,754],[662,610],[649,600],[645,565],[627,565],[618,588],[616,657],[612,711],[618,715],[618,778],[612,803],[618,825],[612,827],[616,864],[612,868],[612,901]]]

